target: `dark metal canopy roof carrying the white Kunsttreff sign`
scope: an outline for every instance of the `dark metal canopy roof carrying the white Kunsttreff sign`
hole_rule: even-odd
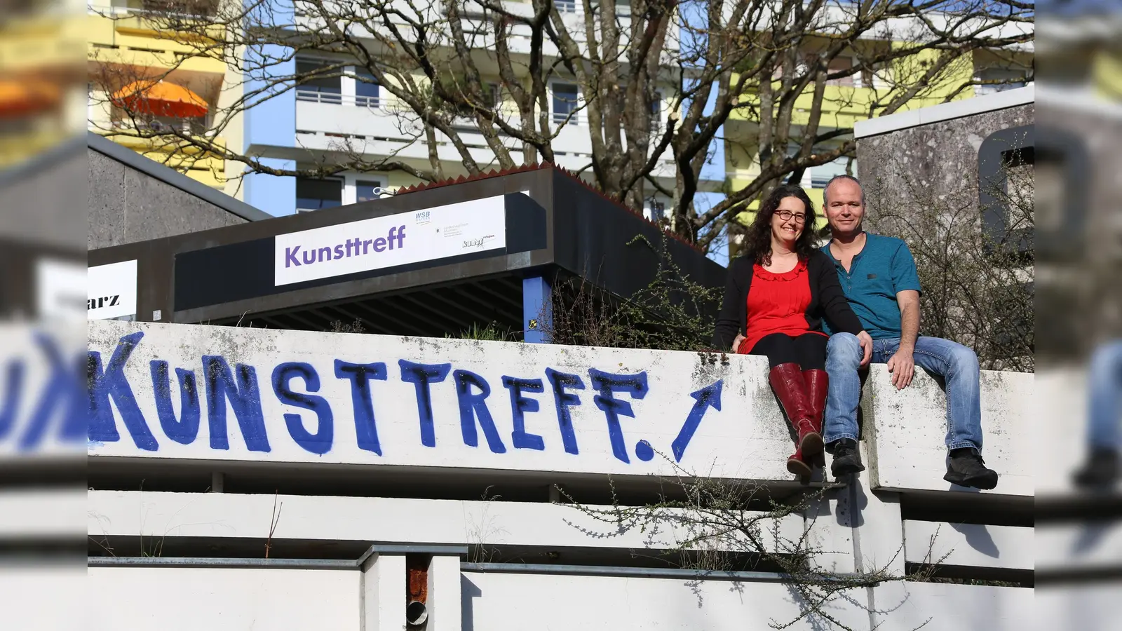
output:
[[[504,207],[505,247],[451,256],[439,252],[405,265],[300,282],[280,283],[275,268],[278,248],[294,234],[347,230],[364,220],[420,217],[430,209],[486,199]],[[91,250],[89,265],[137,260],[136,319],[141,321],[309,330],[358,321],[367,332],[426,337],[494,322],[521,339],[527,318],[536,317],[524,300],[525,278],[540,277],[546,285],[558,277],[583,278],[620,296],[650,283],[662,255],[634,243],[636,236],[665,247],[695,282],[724,285],[724,267],[551,165]]]

